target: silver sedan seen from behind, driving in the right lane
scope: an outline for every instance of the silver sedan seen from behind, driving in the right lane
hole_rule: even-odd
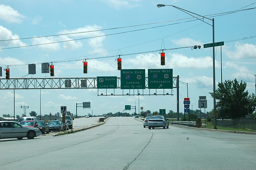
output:
[[[169,121],[164,116],[152,116],[148,120],[148,129],[161,127],[163,127],[164,129],[169,128]]]

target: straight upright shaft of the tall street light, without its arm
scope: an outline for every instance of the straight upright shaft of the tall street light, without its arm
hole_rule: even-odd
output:
[[[214,43],[214,18],[212,19],[212,43]],[[216,92],[215,92],[215,49],[212,47],[212,66],[213,66],[213,124],[214,129],[217,129],[217,120],[216,120]]]

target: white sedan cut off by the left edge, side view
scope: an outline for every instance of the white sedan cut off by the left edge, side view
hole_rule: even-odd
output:
[[[34,139],[40,135],[41,131],[37,128],[23,127],[14,121],[0,121],[0,139],[17,138],[20,140],[24,137]]]

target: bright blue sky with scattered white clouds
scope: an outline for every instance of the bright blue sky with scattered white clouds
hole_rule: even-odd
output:
[[[245,81],[246,90],[255,94],[256,9],[250,9],[256,7],[255,1],[2,0],[0,3],[3,79],[7,66],[11,78],[50,77],[50,73],[41,73],[41,64],[47,62],[54,63],[54,77],[58,78],[120,77],[115,59],[121,55],[123,69],[145,69],[146,77],[148,69],[172,68],[173,76],[179,75],[180,81],[185,83],[180,83],[180,112],[184,112],[186,83],[190,109],[198,109],[198,97],[206,96],[206,111],[211,111],[212,48],[203,48],[203,44],[212,43],[212,20],[202,22],[199,20],[202,17],[195,19],[172,6],[156,7],[156,4],[171,4],[214,18],[215,42],[224,41],[224,46],[215,47],[216,89],[221,81],[222,68],[223,81]],[[11,39],[16,40],[4,41]],[[75,39],[80,40],[68,41]],[[50,44],[37,45],[44,43]],[[201,48],[191,50],[195,45]],[[165,52],[165,66],[160,65],[159,52],[162,50]],[[84,59],[88,62],[87,74],[83,73]],[[36,74],[28,75],[28,64],[32,63],[36,64]],[[41,114],[60,112],[60,106],[67,106],[68,111],[76,113],[76,103],[83,102],[91,102],[91,109],[77,108],[78,115],[123,112],[124,105],[136,106],[138,112],[139,103],[144,111],[166,109],[167,113],[169,110],[176,112],[177,90],[172,90],[165,93],[173,96],[110,97],[97,96],[97,89],[42,89]],[[148,94],[148,89],[140,89],[140,94],[142,91]],[[0,91],[0,116],[13,115],[13,93],[13,90]],[[115,94],[122,93],[123,90],[115,89]],[[157,93],[163,92],[157,90]],[[15,115],[23,113],[20,106],[29,106],[27,114],[36,111],[39,115],[40,90],[15,90]]]

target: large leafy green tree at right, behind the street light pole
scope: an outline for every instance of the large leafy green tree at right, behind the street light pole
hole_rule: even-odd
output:
[[[224,83],[218,84],[216,90],[216,113],[217,118],[236,119],[245,117],[255,110],[255,95],[249,95],[246,89],[246,82],[225,80]],[[210,93],[213,97],[213,93]]]

